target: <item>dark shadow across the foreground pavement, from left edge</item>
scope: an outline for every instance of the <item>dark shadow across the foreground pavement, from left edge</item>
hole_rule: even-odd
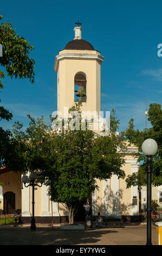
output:
[[[118,233],[103,228],[60,230],[59,227],[37,227],[36,230],[30,230],[30,227],[1,227],[1,231],[0,245],[95,245],[106,239],[105,235]]]

